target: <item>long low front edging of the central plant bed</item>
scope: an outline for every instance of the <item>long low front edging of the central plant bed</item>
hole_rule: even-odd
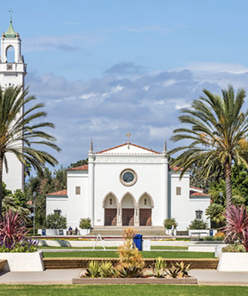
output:
[[[163,284],[163,285],[197,285],[196,278],[73,278],[73,284],[84,285],[130,285],[130,284]]]

